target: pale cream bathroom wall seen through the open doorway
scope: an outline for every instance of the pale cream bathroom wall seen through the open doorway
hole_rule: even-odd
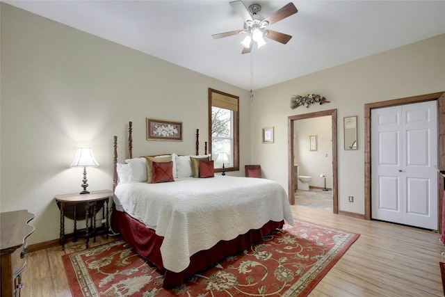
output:
[[[332,188],[332,118],[330,115],[294,122],[294,163],[300,175],[312,177],[309,186]],[[309,136],[317,136],[317,150],[309,150]]]

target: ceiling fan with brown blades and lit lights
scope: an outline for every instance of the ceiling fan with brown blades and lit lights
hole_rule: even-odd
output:
[[[273,13],[272,15],[266,17],[266,19],[259,15],[259,12],[261,11],[261,6],[259,4],[252,4],[249,6],[249,9],[245,7],[243,1],[241,0],[232,1],[229,4],[243,19],[244,29],[213,34],[211,35],[213,39],[223,38],[236,34],[246,34],[244,40],[241,42],[241,45],[243,45],[243,51],[241,52],[241,54],[250,53],[250,51],[252,51],[254,42],[257,42],[258,48],[266,45],[264,37],[280,42],[283,45],[286,45],[286,43],[291,40],[291,35],[272,31],[268,29],[268,26],[282,19],[285,19],[286,17],[296,14],[298,10],[292,2],[287,3],[285,6],[275,11],[275,13]]]

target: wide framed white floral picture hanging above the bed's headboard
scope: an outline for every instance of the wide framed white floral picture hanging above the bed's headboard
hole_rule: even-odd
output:
[[[146,118],[147,141],[182,141],[182,122]]]

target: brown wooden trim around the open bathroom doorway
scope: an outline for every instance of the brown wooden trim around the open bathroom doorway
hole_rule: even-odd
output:
[[[339,195],[338,195],[338,179],[337,179],[337,109],[330,109],[328,111],[317,111],[315,113],[305,113],[302,115],[290,115],[287,118],[287,139],[288,139],[288,191],[289,203],[295,204],[295,189],[294,175],[293,175],[293,134],[294,122],[296,120],[304,120],[308,118],[318,118],[330,115],[332,119],[332,212],[339,213]]]

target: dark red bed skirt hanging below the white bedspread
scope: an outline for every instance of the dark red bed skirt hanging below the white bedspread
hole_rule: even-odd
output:
[[[122,239],[138,252],[139,255],[147,259],[156,267],[165,271],[163,287],[170,289],[184,284],[186,278],[190,278],[193,274],[201,271],[207,266],[214,264],[220,259],[241,252],[252,244],[260,241],[271,231],[282,228],[284,220],[274,222],[270,220],[258,230],[250,230],[245,234],[238,235],[236,239],[231,241],[219,241],[216,246],[209,250],[201,250],[190,258],[190,265],[179,273],[168,271],[163,267],[161,258],[161,244],[163,236],[156,235],[154,230],[145,227],[143,223],[132,218],[122,211],[116,211],[113,206],[111,214],[111,227],[115,232],[120,232]]]

